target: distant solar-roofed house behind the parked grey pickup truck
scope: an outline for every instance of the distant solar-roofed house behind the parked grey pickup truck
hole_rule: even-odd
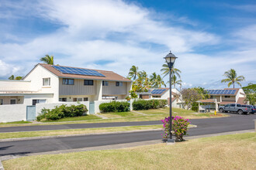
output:
[[[225,88],[223,90],[206,90],[210,98],[198,100],[199,110],[217,110],[220,105],[226,104],[247,104],[246,94],[243,89]]]

